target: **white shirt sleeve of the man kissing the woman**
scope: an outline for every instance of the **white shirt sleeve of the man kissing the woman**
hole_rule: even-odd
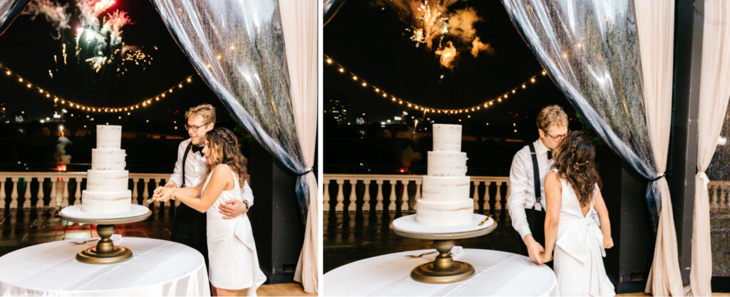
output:
[[[520,151],[521,152],[521,151]],[[520,152],[512,158],[512,167],[510,167],[510,197],[507,198],[507,209],[510,212],[512,227],[520,234],[520,239],[524,239],[527,234],[532,234],[530,226],[527,224],[527,216],[525,215],[525,199],[527,196],[527,170],[525,161],[520,158]]]

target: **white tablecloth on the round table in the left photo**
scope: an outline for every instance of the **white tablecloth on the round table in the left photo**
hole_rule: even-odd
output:
[[[48,242],[0,257],[0,296],[210,296],[203,255],[184,244],[123,237],[132,258],[114,264],[76,260],[84,239]]]

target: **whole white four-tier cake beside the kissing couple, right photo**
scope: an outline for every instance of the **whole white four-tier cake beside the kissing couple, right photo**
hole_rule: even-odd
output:
[[[434,150],[423,177],[423,197],[416,201],[415,219],[424,225],[469,225],[474,201],[469,198],[466,153],[461,152],[461,125],[434,124]]]

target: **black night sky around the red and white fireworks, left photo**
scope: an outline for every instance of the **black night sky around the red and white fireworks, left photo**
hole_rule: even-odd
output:
[[[74,17],[70,25],[72,28],[80,26],[74,4],[71,1],[61,1],[64,2],[69,3],[69,7],[74,7]],[[58,55],[59,65],[63,66],[60,63],[61,41],[53,39],[55,30],[42,15],[35,20],[31,20],[29,15],[20,15],[5,34],[0,36],[0,63],[54,95],[93,107],[119,107],[139,103],[177,85],[185,77],[193,78],[193,82],[185,85],[183,90],[175,88],[172,96],[167,96],[139,112],[131,112],[130,116],[74,112],[74,116],[88,114],[96,117],[97,123],[108,121],[110,124],[128,125],[131,121],[139,123],[150,120],[150,123],[170,122],[172,125],[173,120],[182,123],[185,110],[197,104],[210,103],[224,110],[218,98],[198,77],[188,58],[174,42],[150,1],[120,0],[109,12],[116,9],[128,12],[133,22],[124,27],[123,42],[126,45],[137,45],[153,57],[151,66],[147,66],[145,70],[132,67],[126,74],[117,76],[115,67],[105,66],[101,73],[92,74],[88,71],[88,66],[76,66],[69,58],[67,71],[50,78],[48,71],[55,67],[53,55]],[[69,45],[67,52],[72,55],[72,41]],[[37,92],[31,92],[24,85],[20,85],[14,75],[13,77],[13,80],[9,80],[6,75],[0,77],[0,101],[6,103],[7,115],[23,110],[29,115],[28,120],[37,120],[60,109],[61,104],[54,107],[53,101]],[[69,113],[73,112],[72,109],[67,110]],[[118,119],[119,115],[123,115],[122,120]],[[155,126],[150,128],[154,130]]]

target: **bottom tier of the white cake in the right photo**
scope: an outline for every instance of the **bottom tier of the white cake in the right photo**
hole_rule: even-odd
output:
[[[456,201],[426,201],[418,199],[415,204],[415,220],[423,225],[469,225],[474,215],[474,199],[462,198]]]

